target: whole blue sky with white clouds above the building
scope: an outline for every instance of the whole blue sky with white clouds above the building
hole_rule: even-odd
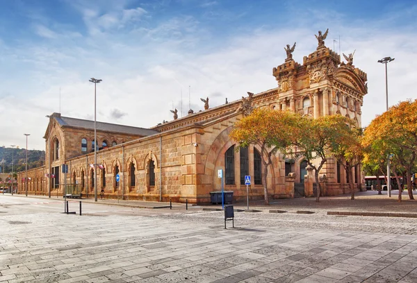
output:
[[[368,74],[362,126],[416,99],[417,2],[0,0],[0,146],[44,150],[46,115],[150,128],[277,87],[272,68],[326,46]],[[340,41],[339,41],[340,38]],[[414,59],[413,59],[414,58]],[[181,103],[182,101],[182,103]]]

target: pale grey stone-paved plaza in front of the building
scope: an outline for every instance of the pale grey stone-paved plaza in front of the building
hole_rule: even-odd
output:
[[[396,197],[240,203],[224,229],[213,205],[0,195],[0,282],[417,282],[417,218],[327,215],[417,212]]]

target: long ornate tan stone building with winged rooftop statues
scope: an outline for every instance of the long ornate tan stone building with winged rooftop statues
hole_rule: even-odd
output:
[[[229,138],[234,123],[252,108],[291,110],[313,118],[342,114],[361,126],[363,95],[367,93],[366,74],[354,67],[353,55],[341,56],[327,48],[321,32],[316,51],[295,62],[295,49],[287,46],[284,64],[273,68],[278,87],[241,100],[209,108],[202,99],[204,111],[188,112],[188,116],[158,124],[153,128],[135,128],[111,123],[97,123],[97,144],[94,122],[59,113],[50,116],[45,132],[45,166],[28,172],[29,194],[63,194],[63,184],[76,184],[82,193],[92,196],[97,173],[98,191],[108,198],[170,200],[207,203],[211,191],[221,187],[217,171],[224,171],[224,189],[234,191],[234,198],[245,198],[245,175],[252,176],[251,198],[263,198],[261,155],[257,146],[234,151],[235,141]],[[94,146],[99,146],[94,170]],[[60,173],[68,165],[67,178]],[[304,186],[304,160],[273,157],[268,170],[267,187],[272,198],[291,198],[294,187]],[[295,172],[288,176],[288,173]],[[116,182],[116,174],[120,182]],[[320,174],[327,179],[327,195],[347,190],[343,166],[330,158]],[[294,177],[295,175],[295,177]],[[54,178],[51,178],[54,177]],[[19,174],[19,191],[25,190],[24,172]],[[295,182],[295,186],[294,186]],[[354,170],[354,182],[363,183],[360,168]]]

